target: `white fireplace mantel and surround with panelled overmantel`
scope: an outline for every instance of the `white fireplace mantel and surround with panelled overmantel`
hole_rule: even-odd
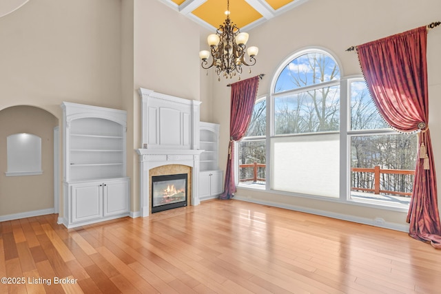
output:
[[[151,207],[150,169],[165,165],[191,167],[192,192],[189,205],[200,203],[198,196],[199,105],[188,100],[141,88],[142,146],[136,149],[140,161],[140,211],[149,216]]]

